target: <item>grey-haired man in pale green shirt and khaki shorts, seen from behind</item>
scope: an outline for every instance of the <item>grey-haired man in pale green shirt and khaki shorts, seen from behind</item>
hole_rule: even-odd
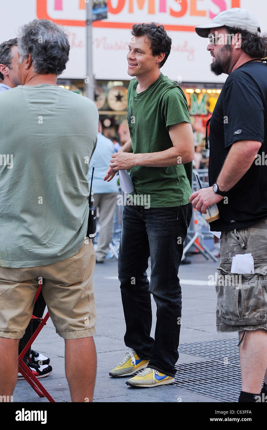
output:
[[[24,25],[22,85],[0,97],[0,395],[15,387],[18,341],[41,283],[65,339],[72,401],[84,402],[92,401],[96,368],[95,260],[86,233],[98,112],[93,101],[56,85],[69,49],[67,35],[52,22]]]

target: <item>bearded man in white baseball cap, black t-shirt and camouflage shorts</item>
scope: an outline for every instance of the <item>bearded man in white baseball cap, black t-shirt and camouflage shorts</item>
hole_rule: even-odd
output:
[[[229,76],[210,119],[210,186],[190,201],[200,213],[218,205],[220,218],[210,224],[221,231],[217,330],[239,332],[239,402],[260,402],[267,399],[267,36],[239,8],[195,30],[209,37],[211,70]],[[234,267],[240,254],[245,269]]]

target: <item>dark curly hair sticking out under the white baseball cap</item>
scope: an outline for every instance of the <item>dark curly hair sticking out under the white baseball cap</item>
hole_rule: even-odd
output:
[[[267,34],[258,35],[249,33],[241,28],[227,26],[225,28],[230,34],[241,33],[241,49],[245,54],[252,58],[267,57]]]

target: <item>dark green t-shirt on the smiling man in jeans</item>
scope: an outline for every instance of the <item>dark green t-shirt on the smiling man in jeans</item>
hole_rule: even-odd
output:
[[[168,126],[191,122],[185,94],[177,83],[162,73],[139,94],[137,85],[137,79],[131,80],[127,94],[127,122],[133,154],[165,151],[173,147]],[[130,170],[130,177],[134,184],[133,194],[149,195],[150,207],[189,203],[192,163],[168,167],[136,166]]]

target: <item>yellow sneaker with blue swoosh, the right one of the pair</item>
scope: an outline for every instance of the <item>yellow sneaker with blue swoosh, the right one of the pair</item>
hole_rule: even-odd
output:
[[[151,369],[148,367],[138,375],[126,381],[127,385],[132,387],[156,387],[157,385],[171,384],[174,382],[174,378],[164,373],[158,372],[158,370]]]

